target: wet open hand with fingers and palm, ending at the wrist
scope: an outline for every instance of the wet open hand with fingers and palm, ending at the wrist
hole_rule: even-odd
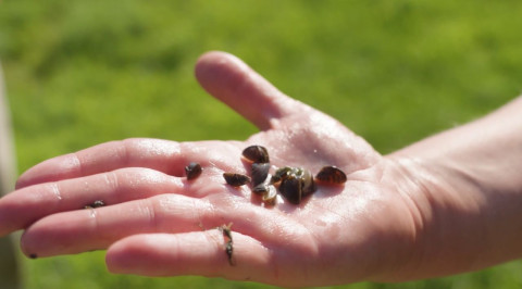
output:
[[[148,276],[311,286],[389,279],[410,265],[417,187],[395,161],[229,54],[204,54],[196,75],[261,131],[246,141],[128,139],[48,160],[0,200],[0,235],[26,229],[22,248],[33,257],[108,249],[111,272]],[[249,173],[240,155],[251,144],[268,148],[276,167],[336,165],[348,181],[319,186],[299,205],[264,206],[222,177]],[[184,177],[189,162],[203,167],[194,180]],[[107,205],[84,209],[97,200]],[[231,223],[234,265],[215,229]]]

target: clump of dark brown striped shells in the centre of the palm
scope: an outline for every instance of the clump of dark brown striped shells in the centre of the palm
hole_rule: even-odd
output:
[[[316,183],[341,185],[347,179],[346,174],[335,166],[324,166],[315,177],[307,168],[290,166],[279,167],[271,175],[269,152],[261,146],[246,148],[243,158],[251,163],[251,177],[237,173],[224,173],[223,177],[235,187],[250,183],[252,192],[261,196],[269,205],[275,204],[277,192],[290,203],[299,204],[316,190]]]

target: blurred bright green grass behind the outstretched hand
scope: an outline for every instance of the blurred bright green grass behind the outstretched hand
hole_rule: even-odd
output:
[[[128,137],[245,139],[257,129],[194,79],[208,50],[238,55],[281,90],[388,153],[520,93],[518,1],[0,2],[20,171]],[[26,261],[27,288],[265,288],[107,273],[103,253]],[[520,288],[521,262],[350,288]]]

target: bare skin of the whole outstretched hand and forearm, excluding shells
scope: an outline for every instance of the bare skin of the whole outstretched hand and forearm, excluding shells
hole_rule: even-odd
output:
[[[518,259],[522,99],[389,155],[274,88],[237,58],[203,54],[196,77],[260,128],[246,141],[126,139],[45,161],[0,200],[0,235],[27,255],[107,249],[117,274],[203,275],[284,287],[405,281]],[[248,146],[275,166],[341,168],[299,205],[262,205],[223,172],[249,174]],[[190,181],[184,167],[198,162]],[[103,208],[80,210],[95,200]],[[233,223],[235,265],[222,231]]]

